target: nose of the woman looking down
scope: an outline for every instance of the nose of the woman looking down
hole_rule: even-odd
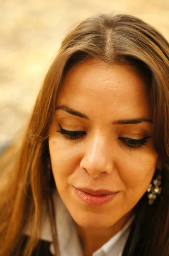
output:
[[[97,177],[101,172],[110,174],[113,171],[112,151],[110,140],[104,136],[96,136],[87,143],[80,168],[93,177]]]

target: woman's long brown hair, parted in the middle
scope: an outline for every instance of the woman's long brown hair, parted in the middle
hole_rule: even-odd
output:
[[[151,90],[153,141],[161,160],[163,190],[152,206],[146,194],[135,206],[135,220],[123,255],[169,255],[169,44],[142,20],[131,15],[110,14],[89,18],[70,32],[48,70],[16,164],[7,172],[9,181],[1,187],[0,256],[19,255],[28,221],[33,229],[23,255],[31,255],[37,244],[44,202],[58,255],[52,201],[55,185],[47,167],[48,136],[63,75],[85,58],[97,58],[108,65],[134,65]]]

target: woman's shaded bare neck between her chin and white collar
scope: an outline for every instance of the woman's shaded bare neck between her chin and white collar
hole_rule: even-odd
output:
[[[127,222],[131,215],[125,215],[117,221],[112,227],[108,228],[84,228],[77,226],[80,242],[82,244],[85,256],[92,256],[103,244],[109,241],[116,233],[118,233]]]

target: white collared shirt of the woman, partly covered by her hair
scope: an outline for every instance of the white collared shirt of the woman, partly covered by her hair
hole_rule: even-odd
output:
[[[58,193],[54,194],[54,202],[56,204],[56,227],[60,256],[84,256],[79,236],[76,231],[76,224]],[[122,230],[96,250],[92,256],[122,256],[124,246],[130,233],[132,220],[133,218],[123,227]],[[50,222],[47,215],[44,216],[42,223],[43,226],[39,234],[39,238],[51,242],[50,251],[55,255]],[[30,227],[27,227],[25,234],[30,234]]]

